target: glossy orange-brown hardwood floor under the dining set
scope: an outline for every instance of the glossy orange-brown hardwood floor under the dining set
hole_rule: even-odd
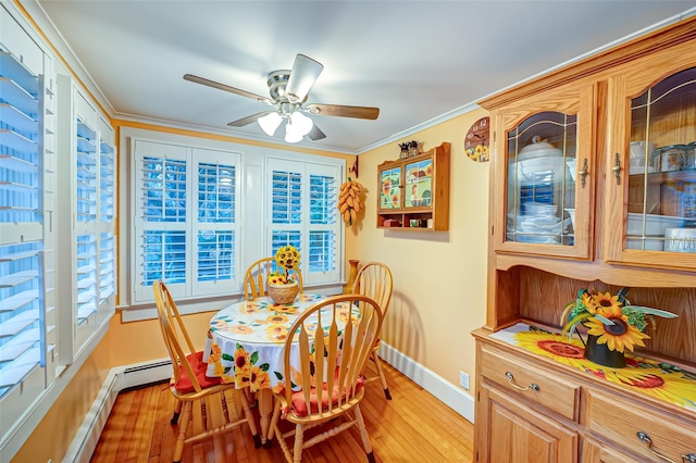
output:
[[[393,400],[385,399],[377,379],[368,383],[360,406],[375,460],[472,462],[473,425],[388,364],[383,365]],[[372,362],[366,374],[376,375]],[[174,398],[165,384],[121,392],[91,463],[171,462],[177,430],[170,424],[173,408]],[[309,463],[368,461],[356,428],[304,450],[302,460]],[[182,461],[282,463],[285,459],[277,441],[271,449],[256,449],[245,425],[214,439],[186,445]]]

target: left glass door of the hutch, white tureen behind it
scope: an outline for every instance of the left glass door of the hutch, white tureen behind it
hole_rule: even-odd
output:
[[[587,97],[585,97],[587,93]],[[589,256],[592,91],[569,90],[498,114],[497,166],[505,208],[497,214],[497,249]],[[552,108],[552,110],[551,110]],[[526,112],[525,112],[526,110]],[[502,137],[500,136],[502,135]],[[505,174],[501,175],[502,170]]]

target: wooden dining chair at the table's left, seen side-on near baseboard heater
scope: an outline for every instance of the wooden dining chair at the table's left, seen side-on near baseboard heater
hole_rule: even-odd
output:
[[[215,434],[238,427],[247,423],[257,447],[261,447],[261,438],[251,413],[251,408],[244,393],[238,393],[235,384],[223,384],[219,377],[206,375],[208,364],[203,362],[203,352],[196,351],[191,338],[186,330],[176,303],[166,285],[162,280],[152,284],[158,318],[166,350],[172,360],[172,378],[170,391],[176,399],[174,415],[171,423],[181,423],[173,461],[179,462],[184,452],[184,445],[196,442]],[[239,400],[244,409],[244,418],[232,421],[227,406],[227,399]],[[194,410],[201,412],[197,418],[204,429],[186,438],[191,424]],[[196,429],[198,430],[198,429]]]

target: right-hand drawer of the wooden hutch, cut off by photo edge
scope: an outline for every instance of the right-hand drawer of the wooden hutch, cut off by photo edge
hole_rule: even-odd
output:
[[[637,402],[619,400],[597,391],[587,393],[586,428],[595,435],[613,441],[650,460],[662,460],[660,453],[671,461],[681,462],[682,455],[696,456],[696,423],[676,416],[670,417],[661,411],[650,410]],[[652,451],[637,437],[643,431],[652,441]]]

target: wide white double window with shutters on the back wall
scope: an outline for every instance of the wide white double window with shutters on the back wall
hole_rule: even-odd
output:
[[[120,303],[124,321],[157,316],[163,279],[183,313],[240,297],[249,264],[284,245],[303,285],[340,292],[345,160],[123,127]]]

